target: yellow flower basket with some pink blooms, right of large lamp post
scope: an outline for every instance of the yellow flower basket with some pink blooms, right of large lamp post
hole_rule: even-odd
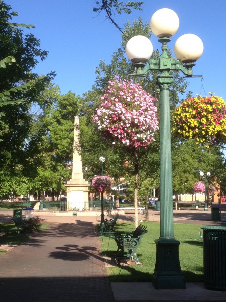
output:
[[[226,103],[210,93],[209,97],[185,100],[174,112],[173,130],[185,139],[194,139],[197,145],[226,139]]]

